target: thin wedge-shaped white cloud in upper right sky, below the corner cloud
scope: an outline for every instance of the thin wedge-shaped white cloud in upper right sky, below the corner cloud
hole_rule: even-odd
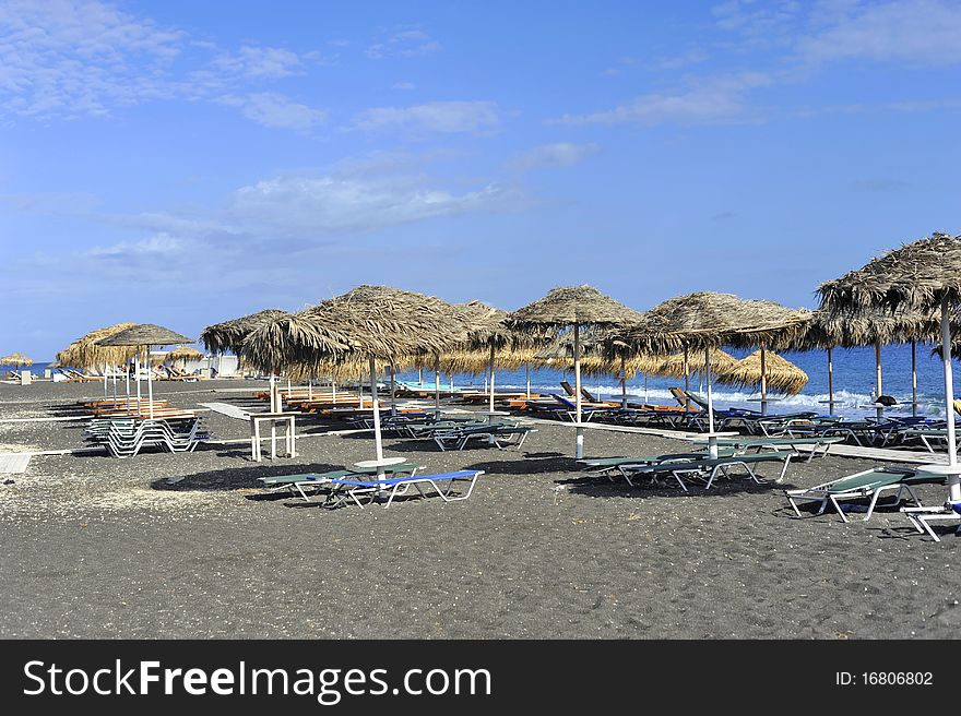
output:
[[[744,73],[693,83],[686,90],[641,95],[632,102],[591,115],[565,115],[562,124],[616,124],[636,122],[715,123],[747,119],[750,114],[746,95],[750,90],[771,84],[761,73]]]

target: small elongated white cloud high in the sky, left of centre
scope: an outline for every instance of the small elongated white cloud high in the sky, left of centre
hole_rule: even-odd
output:
[[[498,126],[493,102],[431,102],[414,107],[376,107],[355,117],[355,127],[378,130],[405,126],[430,132],[477,132]]]

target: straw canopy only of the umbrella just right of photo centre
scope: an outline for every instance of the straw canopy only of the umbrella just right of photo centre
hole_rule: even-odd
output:
[[[559,286],[510,314],[508,325],[520,330],[551,326],[626,325],[642,314],[605,296],[593,286]]]

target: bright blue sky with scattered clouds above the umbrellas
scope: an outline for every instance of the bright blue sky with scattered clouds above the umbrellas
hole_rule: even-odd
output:
[[[961,3],[0,1],[0,354],[363,283],[815,306],[961,231]]]

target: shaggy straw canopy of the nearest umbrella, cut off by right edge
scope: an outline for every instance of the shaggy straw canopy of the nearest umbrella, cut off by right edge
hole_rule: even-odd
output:
[[[933,314],[945,296],[951,303],[961,301],[961,236],[936,231],[903,244],[824,282],[818,294],[830,313],[900,308]]]

